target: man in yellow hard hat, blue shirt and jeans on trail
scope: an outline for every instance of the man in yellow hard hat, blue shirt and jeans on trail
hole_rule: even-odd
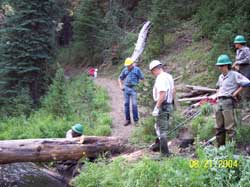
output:
[[[126,58],[124,62],[125,68],[122,70],[118,83],[120,89],[124,93],[124,108],[126,122],[124,126],[131,124],[130,119],[130,98],[132,100],[132,113],[134,123],[137,124],[139,120],[138,107],[137,107],[137,92],[135,87],[139,84],[140,80],[144,80],[144,75],[138,66],[134,66],[132,58]]]

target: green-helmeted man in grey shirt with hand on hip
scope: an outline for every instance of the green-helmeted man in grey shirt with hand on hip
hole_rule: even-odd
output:
[[[216,106],[216,140],[218,147],[225,145],[226,135],[229,141],[234,140],[235,131],[235,103],[243,87],[249,87],[250,81],[244,75],[231,70],[232,61],[226,54],[218,57],[218,66],[221,75],[219,76],[217,87]]]

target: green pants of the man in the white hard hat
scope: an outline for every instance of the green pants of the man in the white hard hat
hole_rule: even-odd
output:
[[[169,116],[172,111],[172,105],[163,105],[160,109],[159,116],[156,120],[156,131],[158,138],[160,139],[160,152],[163,155],[169,154],[168,141],[167,141],[167,129],[169,126]]]

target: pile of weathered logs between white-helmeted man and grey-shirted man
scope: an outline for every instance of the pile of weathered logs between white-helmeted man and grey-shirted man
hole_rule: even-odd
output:
[[[178,101],[179,102],[191,102],[193,107],[197,107],[199,102],[202,100],[215,100],[216,89],[203,87],[203,86],[192,86],[186,85],[186,93],[182,94]]]

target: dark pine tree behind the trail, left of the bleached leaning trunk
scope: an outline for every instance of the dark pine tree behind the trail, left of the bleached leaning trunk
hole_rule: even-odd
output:
[[[74,41],[79,46],[84,58],[97,61],[104,49],[103,17],[101,8],[96,0],[82,0],[74,21]]]

